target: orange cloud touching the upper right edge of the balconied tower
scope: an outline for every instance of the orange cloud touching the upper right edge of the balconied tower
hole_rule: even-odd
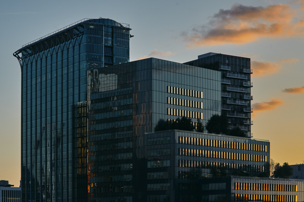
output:
[[[251,61],[251,68],[253,69],[252,76],[257,77],[278,74],[282,66],[272,62]]]

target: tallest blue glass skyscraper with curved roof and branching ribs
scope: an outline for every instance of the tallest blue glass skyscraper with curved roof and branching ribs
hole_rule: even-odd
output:
[[[22,202],[86,200],[87,177],[75,180],[86,150],[75,143],[74,106],[87,100],[88,69],[129,62],[130,30],[111,19],[83,19],[14,53],[22,72]]]

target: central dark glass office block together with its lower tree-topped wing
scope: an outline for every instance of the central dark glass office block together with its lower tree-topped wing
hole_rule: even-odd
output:
[[[263,171],[269,141],[153,132],[159,119],[220,114],[220,81],[219,71],[154,58],[88,71],[89,201],[177,201],[197,169]]]

